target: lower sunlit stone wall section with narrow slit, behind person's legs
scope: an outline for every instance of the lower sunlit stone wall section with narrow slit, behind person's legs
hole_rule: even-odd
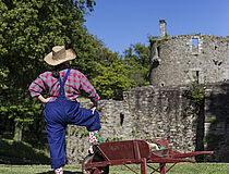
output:
[[[89,109],[89,100],[80,101],[81,107]],[[123,101],[100,100],[98,104],[101,129],[99,134],[103,139],[129,139],[131,136],[131,121],[123,115],[129,115],[128,105]],[[88,154],[88,132],[85,127],[75,125],[68,126],[67,138],[67,161],[68,163],[81,162]]]

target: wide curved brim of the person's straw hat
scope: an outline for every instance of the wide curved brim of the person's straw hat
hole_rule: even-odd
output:
[[[55,65],[61,64],[67,61],[71,61],[76,58],[76,54],[72,49],[68,49],[65,53],[67,54],[64,59],[55,60],[52,59],[52,52],[50,52],[49,54],[45,57],[44,61],[46,61],[46,63],[48,63],[49,65],[55,66]]]

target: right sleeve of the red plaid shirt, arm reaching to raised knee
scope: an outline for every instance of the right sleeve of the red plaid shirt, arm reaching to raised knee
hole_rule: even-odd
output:
[[[98,101],[100,99],[94,86],[89,83],[89,80],[85,77],[83,73],[81,73],[80,83],[81,89],[83,89],[88,95],[88,98],[91,98],[91,100]]]

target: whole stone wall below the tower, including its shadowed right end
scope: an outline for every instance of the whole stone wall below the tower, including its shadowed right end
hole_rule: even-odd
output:
[[[180,152],[213,150],[197,160],[229,162],[229,82],[209,84],[202,104],[186,95],[189,86],[134,88],[123,101],[101,100],[100,135],[106,140],[164,137]],[[89,101],[81,101],[91,108]],[[69,126],[67,160],[81,162],[87,154],[88,132]]]

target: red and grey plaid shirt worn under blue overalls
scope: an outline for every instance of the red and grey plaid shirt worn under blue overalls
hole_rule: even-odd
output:
[[[61,80],[63,80],[67,71],[68,69],[60,71]],[[57,99],[60,85],[58,78],[52,76],[52,72],[45,72],[40,74],[28,88],[32,97],[39,96],[44,89],[47,91],[49,97],[51,97],[50,101],[55,101]],[[75,101],[81,89],[83,89],[92,100],[99,100],[99,96],[96,94],[95,88],[84,74],[77,70],[71,69],[64,85],[67,99]]]

